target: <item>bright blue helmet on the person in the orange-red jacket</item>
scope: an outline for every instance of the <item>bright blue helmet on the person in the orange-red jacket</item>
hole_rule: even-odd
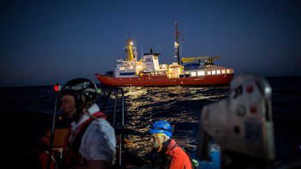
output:
[[[171,137],[173,134],[173,127],[171,126],[171,124],[169,124],[169,122],[159,120],[154,122],[149,132],[151,134],[165,134]]]

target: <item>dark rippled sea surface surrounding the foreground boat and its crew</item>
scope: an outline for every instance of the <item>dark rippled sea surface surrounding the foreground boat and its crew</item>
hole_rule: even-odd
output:
[[[272,86],[276,161],[285,166],[301,160],[301,77],[266,79]],[[97,103],[102,108],[108,88],[99,87],[102,95]],[[123,90],[125,138],[132,142],[127,149],[141,157],[151,150],[147,131],[155,120],[175,124],[173,138],[194,156],[203,106],[229,97],[231,92],[229,86],[125,87]],[[104,111],[109,122],[114,112],[114,100],[110,98]],[[53,86],[0,88],[1,150],[4,156],[1,161],[7,163],[8,168],[19,168],[29,161],[33,147],[52,125],[55,100]],[[60,115],[59,106],[57,113]],[[214,142],[211,152],[213,162],[201,161],[201,168],[220,168],[219,146]]]

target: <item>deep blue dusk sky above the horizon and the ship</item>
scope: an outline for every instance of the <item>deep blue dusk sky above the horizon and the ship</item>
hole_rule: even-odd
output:
[[[40,86],[114,70],[130,37],[141,53],[173,61],[222,56],[235,74],[301,75],[300,1],[13,1],[0,2],[0,86]],[[143,51],[142,51],[143,48]]]

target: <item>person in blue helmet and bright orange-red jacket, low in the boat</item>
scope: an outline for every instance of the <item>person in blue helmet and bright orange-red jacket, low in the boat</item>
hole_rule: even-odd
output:
[[[169,122],[163,120],[154,122],[149,133],[152,146],[158,152],[155,166],[171,169],[192,168],[190,157],[171,138],[173,127]]]

